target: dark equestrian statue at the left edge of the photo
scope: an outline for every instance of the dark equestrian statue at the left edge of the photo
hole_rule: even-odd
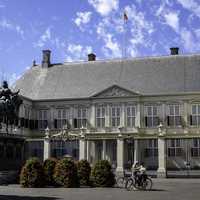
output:
[[[19,107],[22,102],[19,90],[12,92],[7,81],[3,81],[0,87],[0,129],[2,129],[2,123],[5,123],[8,133],[8,125],[18,123]]]

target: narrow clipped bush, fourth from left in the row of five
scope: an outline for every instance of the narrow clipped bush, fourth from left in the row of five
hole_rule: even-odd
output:
[[[90,163],[87,160],[80,160],[77,163],[78,168],[78,178],[80,181],[80,185],[90,185],[90,173],[91,167]]]

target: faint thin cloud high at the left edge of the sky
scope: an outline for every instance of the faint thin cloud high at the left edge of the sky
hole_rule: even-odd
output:
[[[10,31],[15,31],[18,33],[21,37],[24,37],[24,31],[21,28],[21,26],[14,24],[10,22],[9,20],[3,18],[0,20],[0,27],[4,30],[10,30]]]

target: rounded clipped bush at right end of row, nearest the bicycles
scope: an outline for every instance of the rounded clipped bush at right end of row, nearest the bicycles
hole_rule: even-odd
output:
[[[115,175],[107,160],[98,161],[92,169],[92,180],[96,187],[112,187],[115,184]]]

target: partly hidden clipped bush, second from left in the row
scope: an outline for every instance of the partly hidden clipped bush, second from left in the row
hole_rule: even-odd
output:
[[[51,186],[56,185],[53,178],[53,174],[54,174],[54,169],[57,162],[58,160],[56,158],[49,158],[49,159],[46,159],[43,163],[43,170],[44,170],[46,185],[51,185]]]

